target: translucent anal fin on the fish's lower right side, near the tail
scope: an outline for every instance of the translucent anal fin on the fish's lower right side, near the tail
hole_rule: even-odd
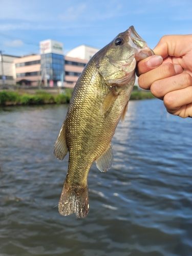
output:
[[[113,164],[113,151],[112,144],[98,157],[96,160],[96,166],[101,172],[109,170]]]

